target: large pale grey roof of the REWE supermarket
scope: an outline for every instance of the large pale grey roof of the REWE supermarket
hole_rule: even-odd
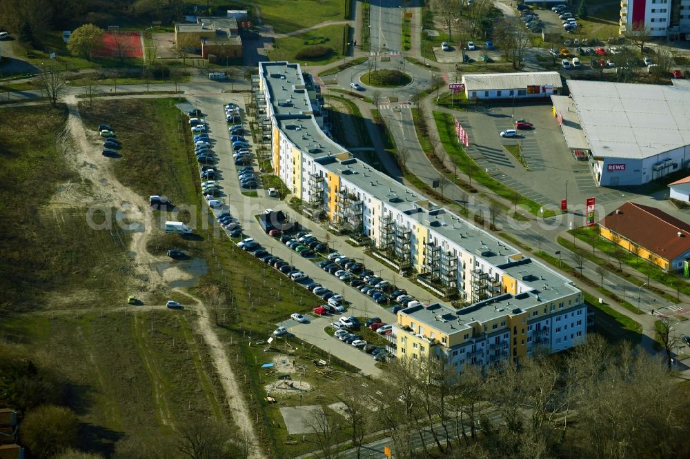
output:
[[[594,156],[644,159],[690,144],[690,88],[569,80]]]

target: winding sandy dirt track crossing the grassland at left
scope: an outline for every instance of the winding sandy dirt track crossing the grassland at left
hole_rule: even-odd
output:
[[[67,103],[69,115],[66,128],[59,137],[58,143],[61,145],[68,160],[72,161],[82,179],[92,183],[94,188],[93,193],[99,196],[99,200],[108,202],[118,209],[126,210],[127,217],[130,221],[144,223],[143,231],[131,233],[132,244],[130,246],[130,252],[132,252],[135,258],[135,265],[137,266],[139,274],[143,274],[148,278],[146,286],[149,291],[151,292],[161,285],[176,280],[171,278],[168,272],[166,272],[166,278],[164,280],[163,276],[153,268],[157,258],[146,250],[146,243],[153,228],[152,211],[148,202],[142,196],[139,196],[117,180],[115,174],[112,172],[112,167],[110,167],[111,160],[101,155],[99,136],[95,133],[87,132],[84,129],[83,123],[81,122],[81,115],[77,108],[77,98],[75,96],[68,96],[65,101]],[[169,270],[166,269],[166,271]],[[184,278],[185,276],[180,272],[180,277]],[[242,391],[239,389],[239,385],[237,385],[235,374],[233,373],[232,367],[230,367],[228,355],[213,329],[206,305],[204,305],[199,298],[181,289],[174,290],[187,296],[196,303],[197,307],[195,309],[197,309],[197,316],[199,318],[199,332],[201,332],[201,336],[204,337],[204,340],[206,340],[206,343],[211,349],[211,356],[213,357],[213,362],[220,376],[226,398],[233,411],[235,424],[239,428],[239,433],[242,433],[240,437],[244,437],[249,443],[248,451],[250,451],[249,457],[251,459],[264,458],[263,453],[259,449],[259,442],[257,441],[254,425],[251,422],[249,410],[242,396]],[[132,310],[135,311],[141,309],[132,307]],[[168,424],[166,420],[171,420],[172,416],[170,416],[169,413],[161,413],[161,418],[165,424]]]

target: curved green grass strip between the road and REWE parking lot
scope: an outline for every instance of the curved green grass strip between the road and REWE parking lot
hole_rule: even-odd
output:
[[[441,143],[443,143],[446,152],[448,152],[451,159],[457,164],[465,174],[471,176],[472,179],[481,183],[482,185],[489,187],[493,192],[514,202],[517,198],[517,204],[524,206],[526,210],[531,212],[536,216],[553,216],[555,212],[553,210],[544,210],[544,214],[540,214],[540,208],[542,205],[535,201],[532,201],[521,194],[517,194],[515,190],[512,190],[506,185],[500,183],[499,181],[493,179],[493,177],[486,174],[484,170],[477,166],[477,164],[472,161],[469,155],[465,152],[464,148],[460,146],[457,141],[457,136],[455,136],[455,127],[453,125],[453,116],[451,114],[442,112],[433,112],[433,116],[436,122],[436,127],[438,129],[439,135],[441,137]]]

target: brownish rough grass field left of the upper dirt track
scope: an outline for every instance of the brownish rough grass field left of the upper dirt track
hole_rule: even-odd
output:
[[[0,117],[0,218],[11,222],[0,237],[0,309],[112,300],[130,269],[119,238],[126,243],[127,236],[93,231],[84,218],[91,187],[55,141],[66,115],[64,107],[46,105]]]

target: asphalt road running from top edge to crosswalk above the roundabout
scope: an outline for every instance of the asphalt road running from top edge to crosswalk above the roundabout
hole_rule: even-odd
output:
[[[369,10],[371,51],[402,53],[402,2],[372,0]]]

